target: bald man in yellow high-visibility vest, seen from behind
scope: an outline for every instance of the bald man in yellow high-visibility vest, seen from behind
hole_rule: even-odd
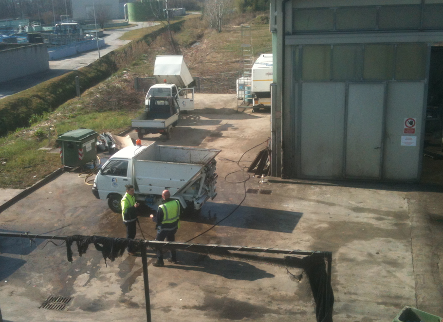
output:
[[[169,190],[164,190],[162,193],[162,204],[158,207],[157,214],[150,215],[152,220],[156,223],[157,237],[155,240],[173,242],[175,241],[175,233],[180,228],[180,201],[172,199]],[[167,259],[168,262],[177,264],[177,254],[175,250],[171,250],[171,257]],[[157,262],[152,264],[160,267],[164,266],[163,252],[161,248],[157,250]]]

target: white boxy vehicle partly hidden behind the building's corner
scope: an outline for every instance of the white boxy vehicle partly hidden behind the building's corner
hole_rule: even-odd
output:
[[[271,91],[273,82],[272,54],[261,54],[252,66],[252,98],[253,110],[260,107],[271,108]]]

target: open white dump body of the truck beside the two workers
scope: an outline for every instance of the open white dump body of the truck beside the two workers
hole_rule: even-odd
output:
[[[134,156],[137,193],[172,196],[200,174],[220,150],[182,146],[149,145]]]

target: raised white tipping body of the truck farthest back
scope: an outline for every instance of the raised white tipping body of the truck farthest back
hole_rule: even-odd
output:
[[[154,77],[159,83],[166,79],[167,83],[178,87],[187,87],[194,82],[183,55],[159,55],[155,58]]]

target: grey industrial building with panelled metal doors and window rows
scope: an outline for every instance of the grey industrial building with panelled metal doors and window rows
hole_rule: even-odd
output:
[[[271,0],[270,15],[273,175],[418,181],[443,1]]]

